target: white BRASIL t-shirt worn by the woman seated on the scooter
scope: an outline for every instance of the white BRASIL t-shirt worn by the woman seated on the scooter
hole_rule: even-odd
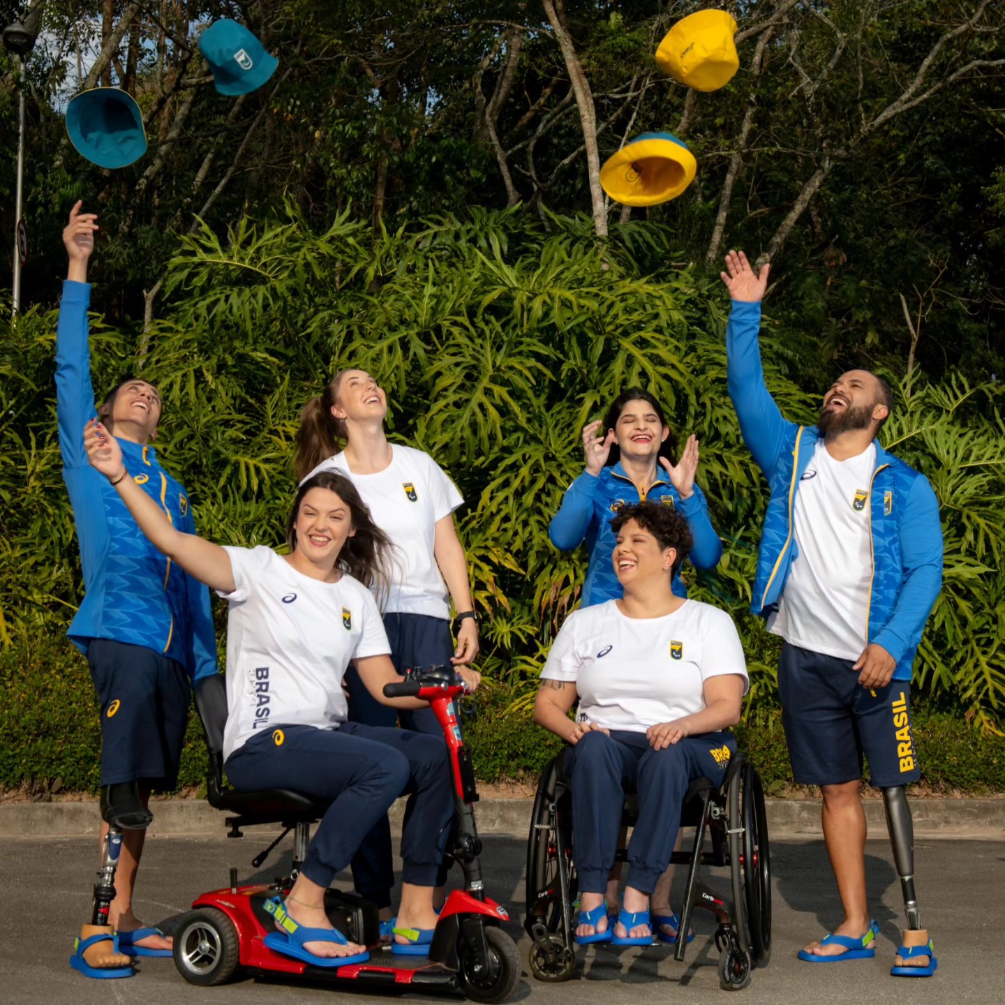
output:
[[[348,708],[351,659],[390,654],[373,594],[343,575],[323,583],[271,548],[226,548],[234,573],[227,601],[227,725],[223,757],[278,726],[336,729]]]

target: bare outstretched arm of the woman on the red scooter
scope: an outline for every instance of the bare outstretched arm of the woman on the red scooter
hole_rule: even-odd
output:
[[[96,419],[84,427],[83,446],[91,466],[115,485],[137,526],[159,552],[211,589],[234,592],[230,556],[219,545],[194,534],[182,534],[172,526],[167,513],[130,477],[122,447]]]

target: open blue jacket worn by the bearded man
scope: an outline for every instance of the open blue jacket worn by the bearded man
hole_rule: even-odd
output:
[[[761,305],[734,301],[726,330],[730,397],[744,441],[771,488],[751,604],[755,614],[767,617],[778,606],[796,558],[796,492],[820,433],[782,417],[764,383],[760,328]],[[878,440],[875,448],[866,637],[896,660],[893,678],[910,680],[922,629],[942,588],[939,501],[924,474],[883,450]]]

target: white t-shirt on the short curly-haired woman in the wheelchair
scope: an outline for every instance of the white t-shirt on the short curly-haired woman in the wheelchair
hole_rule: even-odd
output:
[[[567,680],[579,693],[579,719],[607,730],[645,733],[706,708],[710,677],[738,673],[747,660],[726,611],[685,600],[661,618],[629,618],[616,600],[566,618],[542,679]]]

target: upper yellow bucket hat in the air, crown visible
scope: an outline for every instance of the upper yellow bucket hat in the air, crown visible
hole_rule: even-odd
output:
[[[718,90],[740,69],[736,33],[732,14],[699,10],[670,28],[656,49],[656,62],[679,83],[695,90]]]

